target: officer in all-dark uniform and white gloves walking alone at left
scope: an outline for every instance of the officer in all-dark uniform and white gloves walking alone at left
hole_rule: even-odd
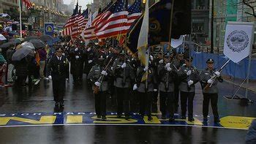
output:
[[[64,91],[66,88],[66,79],[69,77],[69,61],[62,55],[61,48],[56,50],[56,56],[50,59],[48,67],[50,70],[49,79],[53,80],[53,96],[55,105],[64,106]]]

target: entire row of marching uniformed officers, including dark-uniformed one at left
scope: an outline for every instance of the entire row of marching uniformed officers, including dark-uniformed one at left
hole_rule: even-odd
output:
[[[70,51],[79,51],[80,48],[73,48]],[[219,122],[217,110],[218,88],[217,83],[222,82],[222,77],[217,69],[214,69],[214,60],[206,61],[207,68],[199,72],[196,67],[192,66],[192,57],[183,58],[182,53],[178,53],[175,57],[170,53],[158,53],[157,56],[150,56],[148,67],[144,67],[135,58],[127,57],[127,54],[110,48],[94,49],[87,48],[86,61],[88,71],[87,79],[91,81],[94,98],[95,111],[98,118],[106,120],[106,99],[110,89],[115,88],[117,99],[117,117],[121,118],[124,113],[125,118],[130,118],[130,94],[131,91],[138,91],[140,99],[140,115],[148,116],[148,121],[152,120],[151,107],[152,103],[157,102],[159,96],[159,106],[162,113],[162,119],[169,118],[170,122],[175,121],[174,113],[178,107],[178,99],[181,100],[181,118],[186,119],[188,111],[188,121],[195,121],[193,118],[193,100],[195,98],[195,84],[200,82],[203,89],[203,118],[208,121],[208,105],[214,114],[214,122]],[[63,53],[66,53],[64,56]],[[56,105],[63,106],[64,83],[68,77],[68,61],[67,58],[74,57],[79,59],[80,56],[75,53],[69,55],[62,49],[56,50],[56,56],[53,56],[49,63],[53,80],[53,95]],[[71,67],[72,67],[72,59]],[[74,63],[74,61],[73,61]],[[79,69],[79,67],[74,67]],[[143,80],[144,74],[148,72],[148,78]],[[73,73],[74,74],[74,73]],[[77,72],[74,81],[82,78],[82,74]],[[216,79],[213,78],[217,77]],[[63,83],[61,85],[60,83]],[[211,87],[205,89],[206,86]]]

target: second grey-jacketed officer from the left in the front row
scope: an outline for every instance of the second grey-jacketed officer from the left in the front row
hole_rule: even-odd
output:
[[[119,58],[113,63],[113,74],[115,75],[114,86],[117,94],[117,115],[121,118],[123,112],[126,119],[129,119],[129,94],[135,83],[135,74],[130,67],[129,61],[125,58],[125,52],[119,54]]]

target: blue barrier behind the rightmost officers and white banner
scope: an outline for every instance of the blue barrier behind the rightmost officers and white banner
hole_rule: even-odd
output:
[[[214,53],[201,53],[201,52],[192,52],[194,58],[193,65],[197,69],[205,69],[206,61],[208,58],[213,58],[215,61],[215,67],[219,69],[223,64],[228,60],[223,54],[214,54]],[[245,79],[248,71],[248,62],[249,59],[245,58],[240,61],[238,64],[230,61],[227,66],[222,70],[222,74],[230,75],[231,77],[237,77]],[[256,80],[256,59],[252,58],[251,70],[250,70],[250,80]]]

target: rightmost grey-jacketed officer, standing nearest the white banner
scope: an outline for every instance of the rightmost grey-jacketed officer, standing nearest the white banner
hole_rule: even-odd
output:
[[[208,107],[211,101],[212,112],[214,113],[214,122],[219,122],[218,114],[218,88],[217,83],[223,82],[222,76],[217,69],[214,69],[214,59],[209,58],[206,61],[207,67],[200,73],[201,86],[203,88],[203,121],[208,121]],[[214,76],[215,75],[215,76]],[[214,77],[216,78],[214,78]],[[211,87],[210,87],[211,85]]]

